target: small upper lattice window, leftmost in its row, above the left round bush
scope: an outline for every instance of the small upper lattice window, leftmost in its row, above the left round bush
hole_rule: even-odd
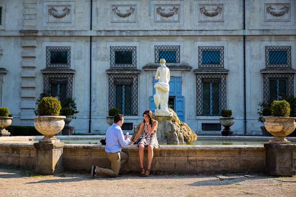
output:
[[[70,68],[70,46],[47,46],[46,68]]]

